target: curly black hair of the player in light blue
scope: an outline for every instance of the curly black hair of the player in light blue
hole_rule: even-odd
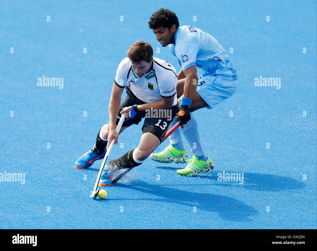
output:
[[[176,29],[179,26],[178,18],[175,13],[169,9],[159,9],[152,14],[149,21],[150,29],[157,29],[159,27],[164,27],[171,29],[172,25],[176,25]]]

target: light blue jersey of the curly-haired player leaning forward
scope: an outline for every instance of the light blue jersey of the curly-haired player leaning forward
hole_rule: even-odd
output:
[[[184,25],[178,27],[174,39],[175,46],[174,44],[168,46],[183,71],[196,65],[204,71],[204,75],[214,75],[228,80],[238,79],[227,52],[207,32]]]

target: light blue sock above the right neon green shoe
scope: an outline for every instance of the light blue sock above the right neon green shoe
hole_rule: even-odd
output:
[[[198,157],[199,160],[206,161],[207,156],[199,137],[197,121],[192,113],[190,121],[188,121],[181,130],[191,148],[192,154]]]

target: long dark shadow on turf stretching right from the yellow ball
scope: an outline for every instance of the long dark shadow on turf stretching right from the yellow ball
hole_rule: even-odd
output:
[[[133,184],[122,184],[117,183],[116,186],[133,189],[142,193],[153,195],[154,198],[141,198],[141,199],[126,199],[126,200],[148,200],[148,201],[159,201],[167,203],[175,203],[184,206],[188,206],[187,213],[191,213],[193,207],[197,207],[197,210],[207,211],[206,213],[217,213],[219,217],[229,221],[253,221],[250,217],[255,217],[259,214],[254,208],[249,205],[238,201],[232,197],[223,195],[214,195],[210,193],[197,193],[186,190],[180,190],[177,188],[165,187],[162,185],[149,184],[141,180],[133,180]],[[203,189],[202,189],[203,191]],[[116,199],[114,199],[116,200]],[[120,201],[125,199],[118,199]],[[178,213],[177,207],[175,212]],[[185,213],[184,210],[179,213]]]

